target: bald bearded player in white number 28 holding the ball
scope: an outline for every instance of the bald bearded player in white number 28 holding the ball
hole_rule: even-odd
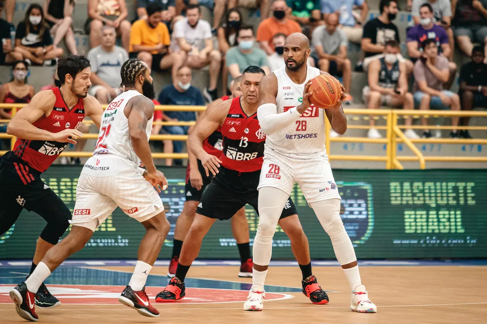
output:
[[[244,310],[261,311],[263,308],[263,287],[271,260],[272,238],[281,209],[294,182],[297,182],[330,236],[335,255],[352,290],[350,308],[357,312],[375,313],[377,307],[369,300],[360,281],[355,251],[341,222],[341,197],[324,145],[324,113],[333,130],[339,134],[346,131],[346,117],[341,100],[326,110],[310,104],[310,80],[320,73],[329,74],[307,66],[309,53],[306,36],[301,33],[290,35],[284,44],[286,66],[266,76],[260,83],[257,116],[267,141],[258,186],[260,219],[253,244],[253,285]]]

